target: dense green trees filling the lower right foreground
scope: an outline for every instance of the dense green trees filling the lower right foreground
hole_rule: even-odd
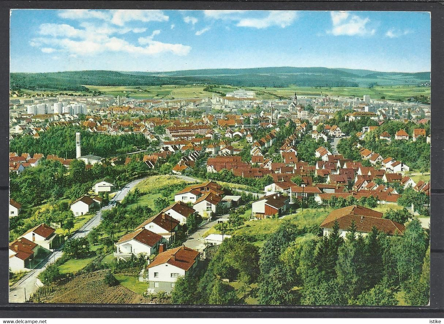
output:
[[[376,228],[363,237],[352,224],[345,239],[338,223],[319,237],[284,222],[260,249],[226,239],[206,268],[176,282],[172,302],[244,304],[228,279],[240,292],[257,284],[259,304],[426,305],[429,277],[429,233],[417,220],[395,237]]]

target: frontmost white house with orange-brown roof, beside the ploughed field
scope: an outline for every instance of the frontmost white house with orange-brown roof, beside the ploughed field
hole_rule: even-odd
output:
[[[197,268],[199,254],[183,245],[159,253],[146,269],[148,292],[170,293],[178,277],[193,273]]]

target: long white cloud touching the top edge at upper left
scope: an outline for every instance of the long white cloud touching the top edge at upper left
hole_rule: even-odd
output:
[[[89,10],[89,9],[67,9],[59,12],[59,17],[66,19],[84,20],[100,19],[112,24],[123,26],[128,21],[168,21],[162,10]]]

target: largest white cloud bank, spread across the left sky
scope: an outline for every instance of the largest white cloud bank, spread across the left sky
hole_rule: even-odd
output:
[[[111,34],[122,34],[125,30],[109,26],[82,24],[84,29],[67,24],[42,24],[38,30],[40,37],[31,40],[30,45],[40,47],[44,53],[64,51],[71,55],[95,55],[102,52],[127,52],[140,55],[153,55],[170,52],[175,55],[187,55],[191,47],[182,44],[162,43],[154,40],[160,34],[155,30],[150,36],[139,37],[139,45],[132,44]],[[130,29],[132,32],[144,32],[146,28]]]

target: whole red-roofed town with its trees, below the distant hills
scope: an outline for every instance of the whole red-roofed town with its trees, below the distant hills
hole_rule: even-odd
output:
[[[10,301],[427,303],[429,104],[20,95]]]

